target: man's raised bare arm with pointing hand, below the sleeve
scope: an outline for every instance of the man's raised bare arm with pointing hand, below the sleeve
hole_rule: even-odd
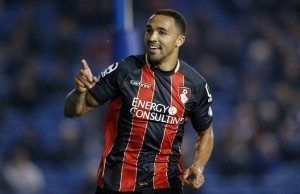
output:
[[[86,61],[82,60],[82,68],[74,78],[75,89],[66,97],[64,107],[66,117],[77,117],[99,106],[98,102],[88,92],[97,81],[98,79],[93,76]]]

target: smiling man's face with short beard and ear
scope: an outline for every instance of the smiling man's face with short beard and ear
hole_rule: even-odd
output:
[[[151,63],[159,64],[169,56],[177,57],[178,48],[183,41],[184,36],[180,34],[172,17],[153,15],[149,19],[146,26],[145,43],[148,60]]]

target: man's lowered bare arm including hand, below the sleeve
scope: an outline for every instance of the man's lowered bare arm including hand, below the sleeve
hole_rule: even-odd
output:
[[[204,183],[203,170],[213,150],[214,134],[213,127],[198,133],[195,143],[195,160],[184,172],[185,185],[199,188]]]

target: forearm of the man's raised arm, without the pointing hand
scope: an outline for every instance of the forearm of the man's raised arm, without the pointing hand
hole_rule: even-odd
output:
[[[87,92],[79,92],[76,89],[71,91],[66,97],[64,115],[72,118],[86,113],[86,95]]]

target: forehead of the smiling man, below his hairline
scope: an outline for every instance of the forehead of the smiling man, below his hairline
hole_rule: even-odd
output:
[[[152,28],[165,28],[167,30],[176,30],[175,20],[170,16],[153,15],[148,20],[148,25]]]

